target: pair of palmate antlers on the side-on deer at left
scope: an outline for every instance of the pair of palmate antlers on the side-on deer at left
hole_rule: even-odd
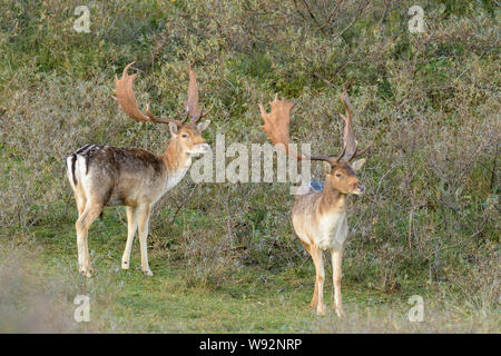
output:
[[[127,113],[128,117],[143,121],[143,122],[155,122],[155,123],[175,123],[178,127],[183,126],[188,117],[191,117],[191,122],[197,122],[204,116],[210,112],[212,108],[208,111],[202,112],[198,111],[198,87],[195,78],[195,72],[191,68],[189,68],[189,87],[188,87],[188,99],[185,102],[186,112],[185,118],[183,120],[173,120],[173,119],[159,119],[156,118],[150,111],[149,106],[146,106],[146,115],[144,115],[137,105],[136,96],[134,95],[134,80],[137,78],[137,73],[129,76],[128,70],[135,62],[131,62],[124,68],[124,72],[121,78],[115,77],[115,99],[118,101],[121,110]]]

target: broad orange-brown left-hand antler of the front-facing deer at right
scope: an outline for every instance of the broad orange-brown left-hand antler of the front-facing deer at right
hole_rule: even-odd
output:
[[[259,126],[259,128],[266,132],[268,138],[271,139],[273,145],[282,144],[279,149],[284,150],[285,154],[289,156],[295,156],[297,159],[310,159],[310,160],[323,160],[327,161],[331,165],[337,164],[340,159],[344,155],[338,156],[337,158],[328,157],[328,156],[312,156],[307,157],[304,155],[298,155],[294,152],[288,147],[289,144],[289,123],[291,123],[291,110],[295,106],[294,101],[282,99],[278,100],[278,95],[275,95],[275,99],[269,102],[272,107],[272,111],[266,112],[263,105],[259,102],[261,116],[263,117],[264,125]]]

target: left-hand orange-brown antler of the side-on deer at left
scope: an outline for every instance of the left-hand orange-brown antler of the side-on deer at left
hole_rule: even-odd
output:
[[[138,120],[138,121],[143,121],[143,122],[149,121],[149,122],[155,122],[155,123],[174,122],[177,126],[181,126],[184,123],[184,121],[156,118],[149,111],[148,106],[146,107],[146,115],[144,115],[139,110],[139,108],[137,106],[137,101],[136,101],[136,96],[134,95],[134,90],[132,90],[134,80],[136,79],[137,73],[134,73],[131,76],[128,75],[128,70],[134,63],[135,62],[131,62],[131,63],[127,65],[126,68],[124,68],[124,72],[122,72],[120,79],[118,79],[118,77],[115,76],[115,86],[116,86],[115,93],[117,96],[115,98],[115,100],[118,101],[121,110],[125,113],[127,113],[128,117],[130,117],[135,120]]]

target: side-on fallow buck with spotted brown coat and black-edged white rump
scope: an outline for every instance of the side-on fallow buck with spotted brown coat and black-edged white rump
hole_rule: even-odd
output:
[[[202,131],[210,121],[197,123],[210,110],[204,112],[198,109],[198,88],[191,68],[185,117],[183,120],[173,120],[156,118],[148,107],[146,115],[139,110],[132,91],[137,73],[128,75],[132,63],[124,69],[121,79],[116,78],[115,99],[121,110],[135,120],[167,123],[171,138],[161,155],[154,155],[140,148],[86,145],[67,157],[67,175],[79,215],[76,222],[78,268],[87,277],[92,273],[87,244],[89,227],[105,206],[116,205],[126,206],[128,220],[121,268],[129,268],[132,240],[139,227],[141,269],[146,275],[153,276],[146,245],[151,207],[183,179],[191,165],[191,156],[210,149],[202,138]],[[187,121],[189,117],[190,120]]]

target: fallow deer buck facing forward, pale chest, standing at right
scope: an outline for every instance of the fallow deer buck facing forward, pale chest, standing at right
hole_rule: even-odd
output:
[[[294,230],[301,244],[313,258],[316,269],[315,289],[311,307],[316,307],[318,315],[325,314],[323,303],[324,287],[324,250],[330,250],[333,266],[334,308],[340,317],[344,316],[341,299],[341,261],[344,244],[347,237],[346,197],[351,194],[361,195],[365,188],[358,182],[355,172],[363,166],[365,159],[352,160],[362,156],[370,147],[357,151],[357,144],[352,126],[350,102],[346,92],[341,97],[346,108],[344,119],[344,147],[341,155],[303,156],[288,147],[291,110],[295,102],[283,99],[269,102],[272,111],[266,112],[259,103],[264,126],[261,126],[273,145],[285,154],[297,159],[321,160],[324,162],[325,181],[311,182],[307,192],[298,195],[292,210]]]

